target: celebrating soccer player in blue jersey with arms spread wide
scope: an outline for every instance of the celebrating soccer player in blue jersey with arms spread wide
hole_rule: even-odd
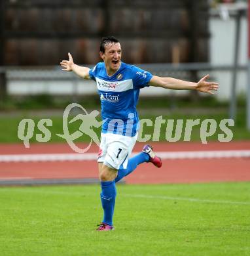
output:
[[[103,62],[99,62],[92,69],[75,64],[70,53],[69,60],[62,60],[60,64],[63,71],[73,71],[84,79],[93,79],[98,87],[101,117],[105,122],[102,125],[98,154],[100,196],[104,216],[97,230],[107,231],[114,228],[115,183],[132,173],[140,163],[151,162],[156,167],[162,166],[162,161],[149,145],[144,146],[140,154],[129,159],[139,129],[136,111],[139,90],[146,86],[154,86],[213,94],[213,91],[217,91],[218,84],[205,81],[208,75],[198,83],[192,83],[171,77],[158,77],[126,64],[121,61],[120,43],[113,36],[101,39],[99,54]]]

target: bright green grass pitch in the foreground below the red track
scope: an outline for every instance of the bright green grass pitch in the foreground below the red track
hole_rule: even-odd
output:
[[[111,232],[99,190],[0,188],[0,255],[250,255],[249,182],[120,184]]]

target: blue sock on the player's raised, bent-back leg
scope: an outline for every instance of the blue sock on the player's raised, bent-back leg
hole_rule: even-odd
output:
[[[128,166],[127,169],[119,169],[117,177],[115,178],[115,182],[120,181],[123,177],[129,175],[134,171],[134,169],[139,165],[140,163],[145,163],[145,161],[149,161],[149,155],[147,153],[141,152],[134,156],[134,158],[130,158],[128,160]]]

